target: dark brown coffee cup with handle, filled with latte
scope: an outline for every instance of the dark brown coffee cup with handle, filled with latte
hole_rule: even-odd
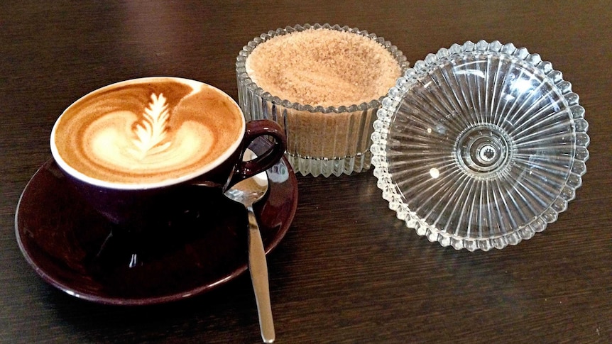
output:
[[[261,137],[268,151],[243,162]],[[285,136],[246,122],[234,99],[202,82],[146,77],[82,96],[53,126],[51,152],[70,185],[111,223],[143,231],[275,165]]]

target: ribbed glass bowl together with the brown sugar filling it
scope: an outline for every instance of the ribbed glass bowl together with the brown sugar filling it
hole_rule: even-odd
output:
[[[283,126],[295,172],[362,172],[371,167],[376,111],[407,67],[400,50],[365,30],[279,28],[239,53],[239,104],[248,120],[269,118]]]

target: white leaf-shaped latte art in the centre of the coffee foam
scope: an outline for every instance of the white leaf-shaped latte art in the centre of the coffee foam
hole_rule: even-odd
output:
[[[135,138],[132,140],[137,149],[134,151],[143,159],[147,155],[161,152],[170,146],[163,142],[168,133],[170,112],[163,94],[151,94],[151,102],[144,110],[140,120],[133,126]]]

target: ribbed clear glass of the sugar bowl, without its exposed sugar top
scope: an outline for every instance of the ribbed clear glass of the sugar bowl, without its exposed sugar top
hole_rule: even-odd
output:
[[[246,60],[258,45],[278,35],[321,28],[355,33],[374,40],[393,56],[402,72],[408,69],[406,57],[395,45],[366,30],[327,23],[288,26],[262,33],[239,52],[236,57],[239,104],[248,121],[268,118],[284,128],[287,157],[295,172],[315,177],[363,172],[371,167],[372,123],[376,120],[383,96],[347,106],[299,104],[273,96],[253,82],[246,71]]]

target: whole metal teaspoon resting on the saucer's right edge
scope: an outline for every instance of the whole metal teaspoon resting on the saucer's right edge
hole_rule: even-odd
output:
[[[273,343],[275,334],[268,286],[268,265],[261,233],[259,233],[259,226],[253,212],[253,204],[259,201],[267,191],[268,175],[266,172],[261,172],[234,185],[225,192],[225,196],[244,204],[248,212],[248,271],[251,272],[251,282],[255,292],[261,338],[264,343]]]

